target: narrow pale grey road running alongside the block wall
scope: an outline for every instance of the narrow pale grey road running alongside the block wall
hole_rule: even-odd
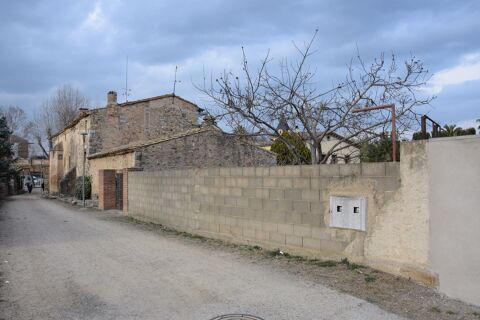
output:
[[[235,253],[31,195],[0,205],[0,319],[399,319]]]

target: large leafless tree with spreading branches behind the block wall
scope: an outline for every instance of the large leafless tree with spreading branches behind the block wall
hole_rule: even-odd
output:
[[[393,54],[388,60],[382,54],[366,64],[358,54],[350,61],[343,82],[320,90],[316,72],[308,64],[315,53],[312,45],[317,32],[302,47],[295,45],[297,60],[283,60],[274,71],[269,53],[252,71],[242,48],[242,75],[224,71],[208,85],[204,82],[197,86],[217,107],[210,112],[231,128],[242,125],[253,135],[282,140],[299,162],[304,162],[300,161],[305,160],[301,153],[277,129],[280,117],[284,117],[310,145],[313,164],[326,163],[352,142],[366,142],[391,130],[389,111],[353,113],[354,109],[394,103],[399,135],[418,123],[415,110],[433,98],[421,91],[428,79],[421,61],[411,58],[399,66]],[[332,134],[340,137],[337,143],[322,150],[322,141]]]

